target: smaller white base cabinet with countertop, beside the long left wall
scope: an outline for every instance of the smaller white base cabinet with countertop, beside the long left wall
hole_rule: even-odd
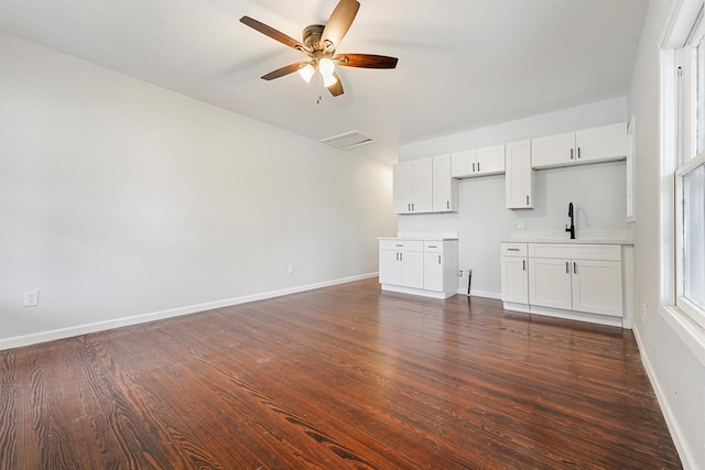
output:
[[[379,239],[384,291],[447,298],[457,294],[457,240]]]

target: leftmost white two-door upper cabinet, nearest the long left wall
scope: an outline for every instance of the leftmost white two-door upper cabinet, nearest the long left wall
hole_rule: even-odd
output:
[[[394,165],[393,208],[395,214],[433,210],[433,160],[421,159]]]

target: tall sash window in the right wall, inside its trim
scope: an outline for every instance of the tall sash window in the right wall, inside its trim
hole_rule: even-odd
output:
[[[672,106],[672,119],[665,122],[673,131],[673,152],[666,155],[672,163],[664,165],[664,176],[674,177],[669,197],[674,211],[668,223],[675,249],[673,261],[666,263],[672,270],[666,278],[674,287],[664,302],[705,328],[705,21],[701,8],[702,3],[699,13],[692,11],[690,23],[681,28],[683,40],[670,55],[673,86],[664,86]]]

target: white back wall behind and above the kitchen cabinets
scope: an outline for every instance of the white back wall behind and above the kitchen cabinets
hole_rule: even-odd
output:
[[[538,138],[627,121],[626,97],[500,125],[482,128],[433,141],[402,146],[400,160]],[[627,225],[625,162],[601,163],[534,173],[534,209],[505,208],[505,176],[462,179],[459,210],[445,215],[399,216],[399,236],[457,236],[458,262],[473,269],[473,294],[500,297],[499,244],[519,238],[563,239],[568,203],[575,206],[576,237],[631,238]],[[527,225],[512,231],[512,221]],[[458,280],[467,289],[467,276]]]

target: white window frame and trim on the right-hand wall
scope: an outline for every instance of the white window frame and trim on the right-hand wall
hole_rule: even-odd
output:
[[[705,317],[681,295],[683,275],[680,274],[683,269],[682,178],[698,166],[704,157],[695,152],[697,107],[691,99],[694,86],[697,85],[697,70],[692,66],[697,52],[693,42],[698,35],[705,35],[703,7],[703,0],[675,2],[661,40],[659,314],[705,365]]]

